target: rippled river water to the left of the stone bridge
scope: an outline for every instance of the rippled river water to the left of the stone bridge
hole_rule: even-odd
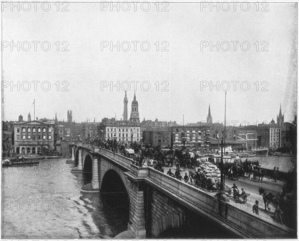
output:
[[[2,168],[2,239],[111,239],[127,230],[127,194],[81,194],[66,159]]]

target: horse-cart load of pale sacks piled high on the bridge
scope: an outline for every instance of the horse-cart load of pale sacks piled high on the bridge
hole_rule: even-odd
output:
[[[218,189],[221,172],[218,167],[210,162],[203,162],[195,169],[195,173],[190,172],[191,182],[203,190],[210,191]]]

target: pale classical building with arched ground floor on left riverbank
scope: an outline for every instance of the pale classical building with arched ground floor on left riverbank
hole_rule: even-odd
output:
[[[22,154],[45,154],[54,150],[54,120],[40,119],[31,121],[19,120],[14,123],[14,152]]]

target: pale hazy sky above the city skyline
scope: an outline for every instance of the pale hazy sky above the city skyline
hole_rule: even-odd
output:
[[[201,9],[200,3],[160,4],[159,11],[153,2],[149,11],[142,10],[140,3],[136,11],[133,3],[128,11],[124,11],[127,5],[120,5],[120,11],[116,8],[111,11],[103,4],[101,8],[101,3],[78,2],[70,2],[68,6],[60,3],[59,11],[54,2],[49,11],[37,5],[34,11],[31,4],[28,11],[23,10],[27,9],[25,5],[20,6],[20,11],[15,8],[11,11],[10,6],[2,11],[2,45],[5,46],[2,81],[4,86],[9,84],[3,91],[4,120],[17,120],[20,114],[27,119],[28,112],[33,116],[34,98],[38,118],[54,118],[57,113],[59,120],[66,120],[67,110],[72,109],[75,121],[86,118],[93,121],[94,117],[100,121],[103,117],[114,117],[115,113],[117,119],[121,119],[123,89],[127,88],[124,81],[131,83],[127,92],[128,116],[134,96],[132,81],[140,81],[136,96],[141,120],[158,118],[180,124],[184,114],[185,123],[204,121],[210,104],[213,121],[221,122],[225,97],[222,89],[228,88],[223,81],[230,83],[228,121],[245,120],[251,124],[272,118],[276,121],[280,104],[285,121],[291,122],[294,118],[297,104],[296,3],[269,3],[268,6],[260,3],[258,11],[253,3],[248,11],[242,10],[240,4],[234,10],[233,3],[228,11],[222,10],[227,8],[224,5],[219,11],[216,8],[211,11],[209,6]],[[69,11],[61,11],[62,7]],[[147,7],[143,5],[144,9]],[[162,7],[168,11],[161,11]],[[262,7],[268,11],[261,11]],[[20,42],[19,51],[17,47],[11,51],[11,41]],[[31,45],[29,51],[24,51],[28,48],[26,41]],[[40,41],[36,43],[36,51],[32,41]],[[48,51],[45,51],[46,43],[42,50],[43,41],[51,44]],[[103,47],[110,42],[117,44],[117,41],[120,41],[119,51],[117,47],[112,51],[110,46]],[[134,41],[139,41],[136,51]],[[203,47],[217,41],[219,51],[216,46]],[[235,42],[235,51],[232,41],[239,41]],[[128,42],[131,48],[125,51]],[[69,51],[61,51],[63,47]],[[229,50],[224,51],[228,47]],[[145,51],[147,48],[149,50]],[[161,51],[162,48],[168,51]],[[10,84],[17,85],[18,81],[19,91],[17,87],[11,91]],[[28,85],[24,81],[31,83],[28,91],[25,91]],[[32,81],[40,81],[36,82],[36,91]],[[110,84],[111,81],[113,84],[119,81],[123,89],[118,91],[114,87],[111,91],[109,86],[101,90],[101,83]],[[217,81],[219,91],[216,87],[201,88],[210,83],[217,86]],[[231,81],[239,81],[235,82],[235,91]],[[42,90],[42,82],[44,89],[49,87],[49,91]],[[69,91],[62,91],[63,87]],[[168,91],[161,91],[162,87]],[[268,91],[262,91],[263,87]]]

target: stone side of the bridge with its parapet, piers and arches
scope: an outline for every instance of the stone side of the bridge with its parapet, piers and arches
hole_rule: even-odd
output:
[[[136,239],[158,238],[171,228],[194,229],[191,226],[196,223],[191,221],[196,216],[216,224],[234,238],[296,237],[294,231],[282,225],[247,213],[151,167],[137,167],[132,159],[82,143],[73,143],[71,147],[75,163],[72,172],[92,171],[91,183],[81,192],[100,192],[107,189],[107,180],[121,180],[130,199],[128,230]]]

